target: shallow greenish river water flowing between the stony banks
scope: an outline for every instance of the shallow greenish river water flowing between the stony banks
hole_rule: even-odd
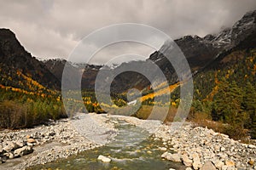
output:
[[[182,163],[161,159],[164,145],[160,140],[154,140],[146,130],[127,122],[118,121],[118,135],[113,142],[94,150],[87,150],[77,156],[32,167],[31,169],[71,169],[71,170],[164,170],[185,169]],[[171,147],[171,146],[170,146]],[[97,160],[99,155],[109,156],[109,163]]]

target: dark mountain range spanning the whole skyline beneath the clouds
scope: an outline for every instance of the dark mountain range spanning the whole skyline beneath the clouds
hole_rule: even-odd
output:
[[[231,28],[226,28],[215,35],[207,35],[206,37],[185,36],[175,40],[183,54],[188,59],[191,71],[195,74],[209,65],[217,62],[218,58],[224,56],[227,51],[232,48],[241,47],[241,42],[246,47],[252,46],[253,39],[248,40],[248,37],[253,37],[256,29],[256,11],[245,14],[241,20],[237,21]],[[177,75],[172,64],[163,55],[164,52],[170,50],[170,44],[166,42],[160,48],[149,56],[146,61],[131,61],[130,63],[123,63],[115,68],[104,67],[106,74],[113,74],[122,67],[129,68],[129,65],[139,65],[145,70],[148,62],[153,61],[158,65],[166,75],[168,81],[172,84],[177,82]],[[1,65],[1,84],[5,86],[19,87],[22,78],[17,76],[17,71],[20,71],[26,77],[47,88],[61,88],[61,77],[64,65],[67,61],[64,59],[49,59],[45,61],[38,61],[27,53],[25,48],[20,45],[20,42],[15,37],[15,34],[8,29],[0,29],[0,65]],[[86,65],[86,64],[67,64],[70,68],[70,75],[73,71],[83,71],[82,87],[93,90],[95,87],[95,80],[98,72],[102,69],[102,65]],[[155,75],[156,71],[150,70],[151,74]],[[10,80],[8,77],[13,77],[16,80]],[[23,78],[24,79],[24,78]],[[70,82],[74,83],[74,82]],[[24,83],[22,86],[26,86]],[[150,82],[143,75],[134,72],[126,71],[115,77],[111,89],[114,93],[122,93],[129,88],[144,89],[150,86]],[[104,88],[104,87],[102,87]]]

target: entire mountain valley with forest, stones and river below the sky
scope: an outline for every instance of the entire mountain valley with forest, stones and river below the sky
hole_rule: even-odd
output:
[[[39,60],[1,28],[0,169],[256,169],[256,11],[218,33],[174,42],[193,75],[185,117],[176,114],[184,111],[180,91],[188,80],[178,81],[164,55],[172,54],[171,42],[146,60],[110,68]],[[167,82],[159,83],[152,62]],[[131,65],[150,72],[154,82],[122,72],[111,82],[110,98],[99,93],[106,99],[99,102],[98,73],[113,76]],[[65,66],[69,89],[61,87]],[[73,81],[79,74],[82,89]],[[108,88],[104,81],[98,89]]]

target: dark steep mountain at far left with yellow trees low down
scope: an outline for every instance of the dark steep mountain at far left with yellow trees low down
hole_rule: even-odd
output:
[[[60,89],[60,81],[20,45],[9,29],[0,29],[0,84],[5,87]]]

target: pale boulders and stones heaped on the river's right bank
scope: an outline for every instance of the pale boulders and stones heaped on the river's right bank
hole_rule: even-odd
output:
[[[170,146],[162,158],[182,161],[188,169],[256,169],[255,145],[241,144],[212,129],[187,124],[171,132],[170,126],[163,125],[155,138]]]

